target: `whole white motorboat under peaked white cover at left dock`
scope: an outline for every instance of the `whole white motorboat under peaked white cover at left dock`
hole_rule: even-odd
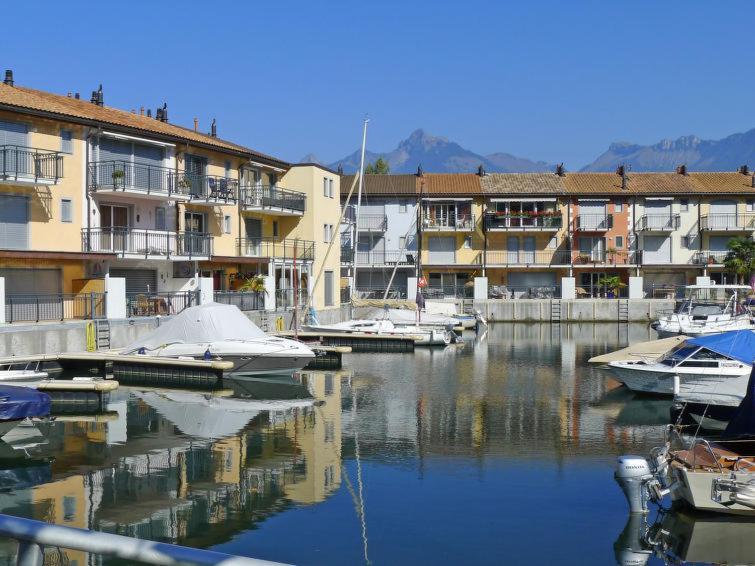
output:
[[[184,309],[122,353],[230,361],[234,377],[290,374],[315,357],[301,342],[268,336],[235,305],[218,303]]]

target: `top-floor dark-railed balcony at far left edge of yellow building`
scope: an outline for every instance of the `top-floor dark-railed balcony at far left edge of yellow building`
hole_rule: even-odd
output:
[[[55,184],[63,178],[63,155],[19,145],[0,145],[0,181]]]

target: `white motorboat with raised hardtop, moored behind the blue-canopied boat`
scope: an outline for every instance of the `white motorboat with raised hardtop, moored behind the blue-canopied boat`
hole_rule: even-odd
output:
[[[752,329],[752,317],[743,305],[752,292],[747,285],[689,285],[675,312],[653,323],[661,336],[700,336]]]

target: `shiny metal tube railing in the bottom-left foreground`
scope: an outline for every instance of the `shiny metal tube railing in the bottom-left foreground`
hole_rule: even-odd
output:
[[[45,547],[65,548],[100,556],[112,556],[142,564],[165,564],[175,566],[272,566],[277,562],[256,560],[178,546],[164,542],[140,540],[122,535],[87,531],[73,527],[51,525],[42,521],[0,515],[0,536],[18,541],[18,566],[41,566],[45,562]]]

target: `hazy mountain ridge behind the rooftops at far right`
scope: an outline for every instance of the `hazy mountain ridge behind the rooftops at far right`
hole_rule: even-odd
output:
[[[755,165],[755,129],[720,140],[683,136],[654,145],[612,143],[582,171],[614,171],[626,163],[632,171],[673,171],[686,164],[692,171],[735,171],[744,164]]]

